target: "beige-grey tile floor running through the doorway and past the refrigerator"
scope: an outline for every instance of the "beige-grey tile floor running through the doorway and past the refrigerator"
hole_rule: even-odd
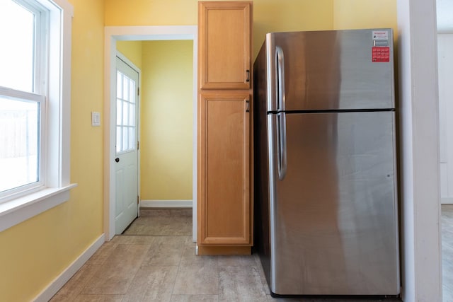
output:
[[[273,298],[256,255],[195,256],[191,234],[191,210],[143,210],[51,301],[348,301]],[[442,206],[442,240],[444,302],[453,302],[453,205]]]

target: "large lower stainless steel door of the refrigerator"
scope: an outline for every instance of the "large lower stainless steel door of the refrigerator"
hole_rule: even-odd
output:
[[[399,294],[394,122],[394,112],[286,115],[282,180],[270,151],[273,294]]]

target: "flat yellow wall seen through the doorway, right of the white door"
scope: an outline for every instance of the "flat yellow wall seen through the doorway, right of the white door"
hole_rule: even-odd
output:
[[[141,198],[192,199],[193,41],[142,49]]]

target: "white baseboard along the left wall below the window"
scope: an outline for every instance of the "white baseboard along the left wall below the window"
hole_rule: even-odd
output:
[[[47,302],[50,300],[50,298],[55,296],[55,294],[57,294],[57,291],[59,291],[59,289],[61,289],[64,284],[66,284],[66,282],[69,281],[72,276],[74,276],[74,274],[76,274],[76,272],[85,264],[85,262],[88,261],[88,259],[90,259],[90,257],[96,252],[96,250],[98,250],[98,248],[101,248],[101,245],[105,241],[104,237],[104,234],[99,236],[99,238],[96,239],[93,244],[91,244],[86,250],[84,250],[84,252],[82,252],[81,255],[79,255],[79,257],[77,257],[77,259],[74,260],[71,265],[69,265],[69,267],[64,269],[64,271],[59,274],[59,276],[55,278],[54,281],[52,281],[52,283],[50,283],[46,289],[41,291],[41,293],[38,294],[38,296],[36,296],[33,301]]]

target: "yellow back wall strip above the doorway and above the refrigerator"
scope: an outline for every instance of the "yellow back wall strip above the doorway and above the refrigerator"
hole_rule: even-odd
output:
[[[365,0],[366,1],[366,0]],[[196,25],[197,0],[105,0],[105,25]],[[253,53],[271,31],[333,27],[334,0],[254,0]]]

